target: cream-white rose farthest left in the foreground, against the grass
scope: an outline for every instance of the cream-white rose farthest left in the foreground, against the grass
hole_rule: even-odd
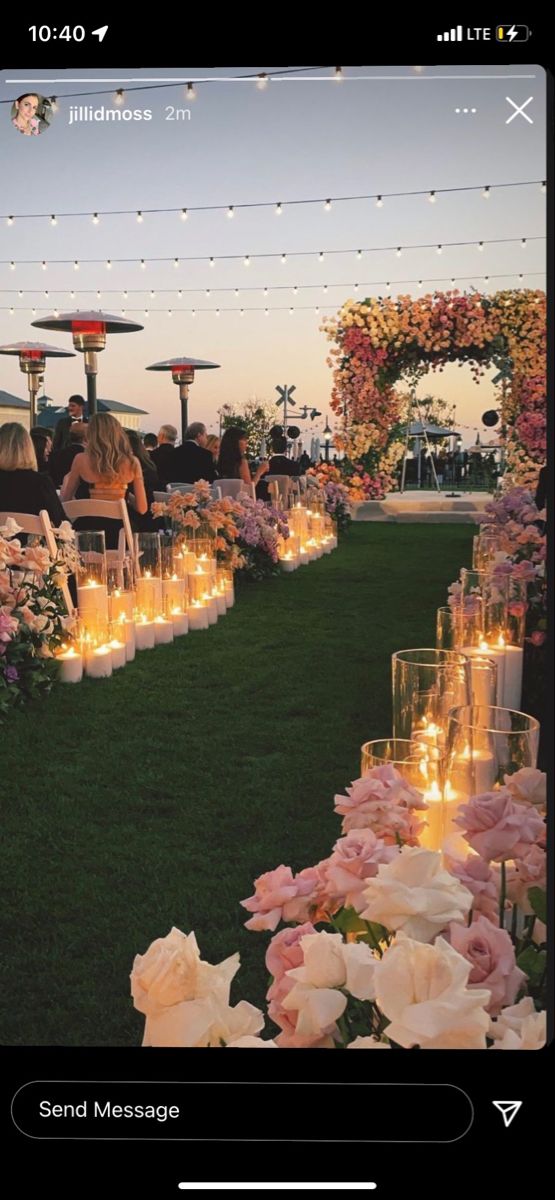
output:
[[[202,998],[211,991],[227,1002],[238,968],[238,954],[219,966],[203,962],[195,934],[187,936],[173,928],[166,937],[157,937],[145,954],[137,954],[135,959],[131,972],[135,1007],[147,1016],[156,1016],[165,1008]]]

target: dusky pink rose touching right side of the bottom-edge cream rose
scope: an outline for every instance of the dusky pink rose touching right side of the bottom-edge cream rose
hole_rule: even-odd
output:
[[[505,929],[496,929],[485,917],[472,925],[450,925],[450,944],[471,964],[469,988],[488,988],[491,998],[485,1009],[497,1016],[506,1004],[513,1004],[526,982],[517,966],[513,943]]]

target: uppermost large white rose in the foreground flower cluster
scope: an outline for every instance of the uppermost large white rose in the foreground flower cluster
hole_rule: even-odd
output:
[[[404,846],[392,863],[381,864],[364,889],[364,920],[404,930],[419,942],[431,942],[452,920],[464,920],[472,894],[443,870],[441,854],[420,846]]]

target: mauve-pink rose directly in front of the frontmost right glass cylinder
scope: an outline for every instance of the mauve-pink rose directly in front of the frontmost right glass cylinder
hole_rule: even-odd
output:
[[[545,832],[535,809],[515,804],[507,788],[473,796],[458,811],[454,823],[464,830],[469,846],[487,863],[521,858]]]

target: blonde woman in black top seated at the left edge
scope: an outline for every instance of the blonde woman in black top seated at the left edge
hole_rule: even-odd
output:
[[[35,512],[46,509],[58,528],[66,515],[49,475],[37,469],[35,446],[23,425],[0,427],[0,511]]]

